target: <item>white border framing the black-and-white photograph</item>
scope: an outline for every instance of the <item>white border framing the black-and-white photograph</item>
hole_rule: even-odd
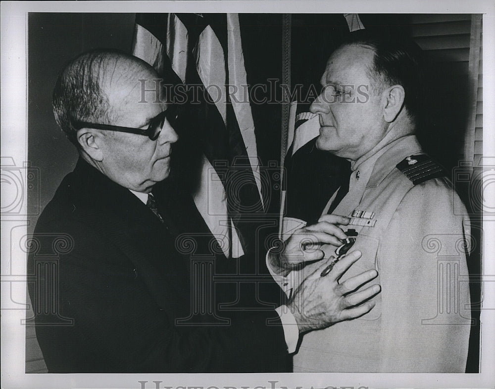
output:
[[[3,1],[1,3],[1,156],[27,161],[28,12],[482,13],[484,156],[495,156],[495,5],[493,1]],[[2,160],[3,161],[3,160]],[[492,185],[493,186],[493,185]],[[3,190],[3,189],[2,189]],[[487,195],[495,198],[495,188]],[[23,202],[25,207],[25,202]],[[24,209],[25,211],[25,209]],[[25,212],[21,212],[25,214]],[[495,309],[482,309],[479,374],[25,374],[24,310],[4,309],[11,294],[26,297],[26,279],[8,276],[13,262],[9,223],[1,228],[2,388],[493,388]],[[25,228],[25,227],[24,227]],[[494,221],[484,222],[485,304],[495,306]],[[13,253],[25,256],[24,253]],[[22,259],[17,259],[21,261]],[[24,260],[25,261],[25,260]],[[24,300],[25,301],[25,300]],[[140,383],[144,382],[144,383]],[[158,382],[158,384],[154,383]]]

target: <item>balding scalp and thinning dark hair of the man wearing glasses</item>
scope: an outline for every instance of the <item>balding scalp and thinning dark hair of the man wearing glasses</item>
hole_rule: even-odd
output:
[[[156,76],[146,62],[111,50],[93,50],[67,63],[53,90],[53,113],[69,140],[79,147],[76,122],[108,124],[119,115],[125,100],[122,88],[143,74]],[[139,78],[139,77],[138,77]]]

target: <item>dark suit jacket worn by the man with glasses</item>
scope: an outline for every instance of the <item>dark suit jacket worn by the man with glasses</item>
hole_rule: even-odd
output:
[[[180,212],[183,197],[173,216],[163,207],[167,201],[173,199],[161,201],[162,224],[128,189],[82,160],[64,178],[38,220],[37,246],[28,259],[28,271],[38,277],[29,294],[50,373],[287,369],[284,333],[273,309],[232,314],[229,325],[205,325],[211,315],[201,314],[194,325],[177,325],[191,316],[194,304],[190,258],[178,253],[175,238],[186,228],[184,220],[198,215],[191,208]],[[174,222],[180,215],[186,215],[182,226]],[[49,275],[41,270],[43,248],[51,244],[53,250],[57,234],[68,243]],[[222,264],[218,257],[215,266],[235,263]]]

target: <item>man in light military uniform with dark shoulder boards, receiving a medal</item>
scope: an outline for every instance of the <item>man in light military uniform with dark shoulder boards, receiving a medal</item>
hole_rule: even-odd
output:
[[[267,260],[289,294],[303,274],[319,267],[324,277],[331,269],[328,260],[302,269],[295,264],[335,262],[353,244],[351,250],[363,253],[355,271],[379,269],[382,293],[362,317],[306,334],[294,371],[464,372],[470,299],[468,283],[458,276],[468,273],[469,219],[453,214],[454,207],[462,209],[460,199],[414,135],[419,48],[351,35],[330,56],[323,90],[310,108],[320,118],[317,147],[351,163],[348,192],[338,204],[336,192],[319,222],[305,227],[301,221],[288,241],[314,231],[317,246],[269,252]],[[341,247],[319,240],[329,224]],[[441,260],[440,250],[451,260]]]

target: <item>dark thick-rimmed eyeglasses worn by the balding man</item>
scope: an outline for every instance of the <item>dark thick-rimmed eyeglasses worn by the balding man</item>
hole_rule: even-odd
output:
[[[170,124],[170,126],[174,127],[177,119],[179,117],[179,107],[175,104],[171,104],[168,108],[160,112],[153,119],[149,121],[148,128],[145,129],[137,129],[134,127],[122,127],[122,126],[113,126],[110,124],[99,124],[99,123],[90,123],[90,122],[75,122],[74,128],[76,130],[81,130],[83,128],[91,128],[96,130],[108,130],[108,131],[119,131],[119,132],[129,132],[138,135],[146,135],[149,139],[155,140],[160,135],[163,124],[165,123],[165,119]]]

